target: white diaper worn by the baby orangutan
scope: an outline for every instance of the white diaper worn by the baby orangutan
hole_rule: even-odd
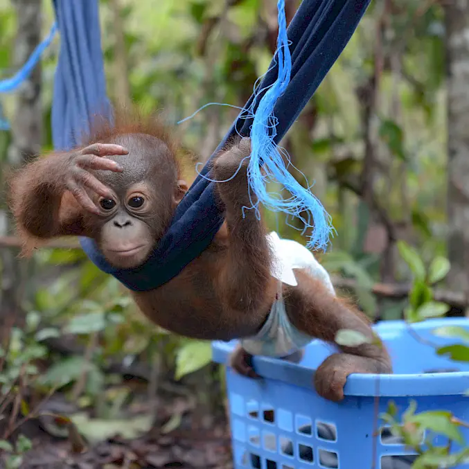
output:
[[[286,357],[308,345],[313,337],[302,333],[290,323],[281,296],[281,283],[298,285],[293,269],[306,269],[321,280],[330,292],[335,294],[335,291],[328,272],[306,247],[293,240],[283,240],[275,232],[269,233],[267,239],[274,257],[272,276],[280,282],[278,299],[274,301],[269,317],[258,334],[241,339],[240,344],[251,355]]]

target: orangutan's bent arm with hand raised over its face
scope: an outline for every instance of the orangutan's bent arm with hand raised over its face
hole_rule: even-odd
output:
[[[86,235],[85,213],[99,213],[89,191],[109,196],[109,189],[90,170],[121,171],[115,161],[103,157],[126,152],[120,145],[95,143],[40,157],[17,170],[10,178],[8,199],[26,245]]]

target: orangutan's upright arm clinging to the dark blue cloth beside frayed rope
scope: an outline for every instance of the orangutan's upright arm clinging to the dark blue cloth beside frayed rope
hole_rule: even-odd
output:
[[[247,166],[250,141],[222,152],[213,164],[213,177],[226,209],[229,247],[221,267],[220,299],[241,321],[252,321],[253,333],[262,324],[275,299],[276,283],[271,276],[271,254],[264,224],[250,207]],[[234,177],[233,177],[234,175]]]

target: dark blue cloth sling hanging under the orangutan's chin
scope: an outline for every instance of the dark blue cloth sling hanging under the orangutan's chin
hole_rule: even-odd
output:
[[[292,72],[290,83],[274,108],[278,120],[275,143],[281,141],[342,53],[370,1],[303,0],[287,32],[291,42]],[[62,62],[57,69],[58,81],[54,89],[54,144],[57,148],[71,148],[76,143],[71,138],[73,130],[82,128],[90,112],[102,109],[103,103],[107,103],[96,26],[97,4],[96,0],[55,0],[55,8],[62,35]],[[91,17],[88,24],[84,22],[87,15]],[[75,33],[76,30],[79,33]],[[277,76],[276,61],[273,60],[260,88],[267,89]],[[245,109],[261,97],[262,94],[251,96]],[[257,104],[254,103],[254,107]],[[249,136],[251,125],[251,118],[237,119],[214,154],[236,133]],[[87,256],[130,290],[152,290],[170,281],[202,254],[224,221],[223,209],[215,202],[215,183],[206,179],[208,172],[209,165],[206,165],[177,207],[168,232],[143,265],[136,269],[112,267],[94,240],[82,238],[82,248]]]

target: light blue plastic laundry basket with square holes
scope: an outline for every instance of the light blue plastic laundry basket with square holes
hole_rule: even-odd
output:
[[[439,346],[458,342],[434,336],[432,330],[439,326],[469,330],[469,321],[435,319],[412,328]],[[445,409],[469,420],[469,398],[464,396],[469,389],[468,364],[437,356],[402,321],[387,321],[375,330],[389,348],[395,374],[351,375],[339,404],[320,398],[312,387],[315,368],[332,353],[323,342],[312,342],[300,364],[255,357],[263,380],[227,369],[235,469],[410,468],[416,456],[377,421],[389,400],[396,402],[400,414],[413,399],[416,412]],[[213,360],[226,363],[234,345],[214,342]],[[469,430],[463,434],[469,441]],[[446,443],[443,436],[434,439],[436,445]],[[458,466],[463,468],[469,464]]]

